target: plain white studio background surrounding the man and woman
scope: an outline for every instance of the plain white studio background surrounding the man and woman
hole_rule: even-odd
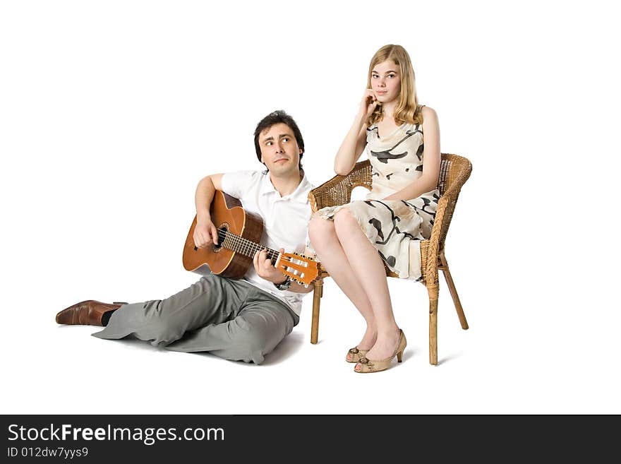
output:
[[[617,17],[608,2],[4,1],[3,413],[620,413]],[[326,282],[262,366],[90,337],[83,299],[164,298],[206,174],[260,169],[255,124],[298,121],[332,177],[368,61],[402,44],[442,151],[468,157],[440,282],[390,280],[404,362],[354,373],[363,325]],[[282,218],[286,221],[287,218]]]

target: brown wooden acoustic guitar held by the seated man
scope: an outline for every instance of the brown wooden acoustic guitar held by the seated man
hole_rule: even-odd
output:
[[[239,279],[253,266],[253,257],[265,249],[267,258],[289,278],[301,285],[310,285],[319,276],[319,263],[298,253],[281,253],[259,244],[263,234],[263,220],[248,213],[237,198],[216,191],[210,206],[211,220],[218,231],[218,244],[206,248],[194,245],[196,216],[183,246],[183,268],[207,275],[214,273]]]

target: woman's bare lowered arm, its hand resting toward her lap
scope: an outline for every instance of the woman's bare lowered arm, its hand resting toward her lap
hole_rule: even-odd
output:
[[[423,107],[423,174],[414,182],[394,194],[384,198],[385,200],[411,200],[418,198],[438,186],[440,176],[440,126],[438,114],[430,107]]]

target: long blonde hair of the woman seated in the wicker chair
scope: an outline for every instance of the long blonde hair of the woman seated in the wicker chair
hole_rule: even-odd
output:
[[[369,64],[367,88],[371,88],[371,73],[378,63],[383,63],[387,59],[394,61],[399,66],[399,78],[401,79],[401,90],[399,92],[399,101],[394,109],[394,122],[403,124],[423,124],[423,113],[421,107],[418,106],[418,98],[416,97],[416,78],[414,77],[414,68],[410,61],[408,52],[401,45],[384,45],[380,48],[371,59]],[[375,124],[384,117],[382,105],[378,105],[375,111],[370,115],[367,124]]]

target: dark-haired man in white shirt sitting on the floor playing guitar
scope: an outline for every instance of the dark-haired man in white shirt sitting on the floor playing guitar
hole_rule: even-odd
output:
[[[194,243],[199,248],[217,244],[209,208],[219,190],[239,198],[246,211],[263,219],[261,244],[303,251],[313,186],[302,170],[300,130],[289,114],[276,111],[259,122],[254,136],[257,157],[267,170],[201,179],[195,195]],[[299,322],[301,294],[312,289],[291,282],[272,266],[265,251],[258,251],[243,280],[210,274],[167,299],[135,304],[88,300],[56,314],[56,322],[105,326],[92,334],[99,338],[135,335],[167,350],[207,351],[260,364]]]

